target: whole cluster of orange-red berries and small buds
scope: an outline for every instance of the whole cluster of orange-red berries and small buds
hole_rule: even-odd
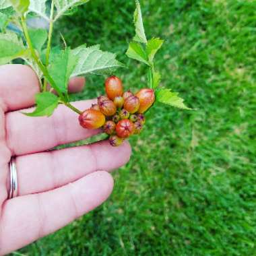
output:
[[[121,79],[116,76],[106,79],[105,89],[107,96],[98,97],[98,103],[79,116],[79,123],[86,129],[102,127],[110,135],[110,145],[119,146],[129,136],[141,132],[146,121],[143,113],[155,101],[154,90],[123,92]]]

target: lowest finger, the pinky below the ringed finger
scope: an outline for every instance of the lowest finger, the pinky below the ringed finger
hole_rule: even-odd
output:
[[[110,174],[94,172],[53,191],[7,200],[1,218],[0,254],[55,232],[100,205],[112,190]]]

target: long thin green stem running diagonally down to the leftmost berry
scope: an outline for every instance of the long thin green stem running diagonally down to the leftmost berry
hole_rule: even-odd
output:
[[[78,114],[81,114],[82,112],[80,110],[78,110],[77,108],[75,108],[69,102],[67,102],[65,100],[65,97],[63,96],[61,90],[59,90],[59,88],[56,86],[56,84],[55,84],[53,78],[51,77],[51,75],[49,74],[48,70],[46,69],[46,67],[44,67],[44,65],[42,64],[42,62],[36,55],[36,52],[34,51],[34,47],[32,45],[32,41],[30,39],[30,35],[28,34],[28,28],[26,25],[26,19],[25,19],[24,15],[22,15],[22,17],[21,17],[21,22],[22,22],[22,29],[23,29],[23,32],[24,32],[24,35],[25,35],[25,38],[26,38],[26,41],[28,44],[28,48],[30,49],[32,58],[34,59],[34,61],[36,61],[36,64],[41,69],[42,73],[44,74],[44,77],[46,77],[46,79],[51,84],[53,89],[56,90],[57,94],[59,95],[59,98],[61,98],[61,102],[63,102],[63,104],[65,104],[65,106],[67,106],[68,108],[71,108],[71,110],[75,111]]]

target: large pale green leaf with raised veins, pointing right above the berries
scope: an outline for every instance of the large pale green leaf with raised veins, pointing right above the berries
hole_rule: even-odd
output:
[[[118,67],[123,67],[123,64],[115,59],[115,54],[101,51],[100,45],[86,47],[84,44],[73,49],[72,53],[78,57],[72,77],[102,71],[112,72]]]

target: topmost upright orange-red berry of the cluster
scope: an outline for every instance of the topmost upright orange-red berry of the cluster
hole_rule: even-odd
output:
[[[106,95],[110,100],[114,100],[117,96],[123,95],[122,81],[119,77],[111,76],[105,82]]]

